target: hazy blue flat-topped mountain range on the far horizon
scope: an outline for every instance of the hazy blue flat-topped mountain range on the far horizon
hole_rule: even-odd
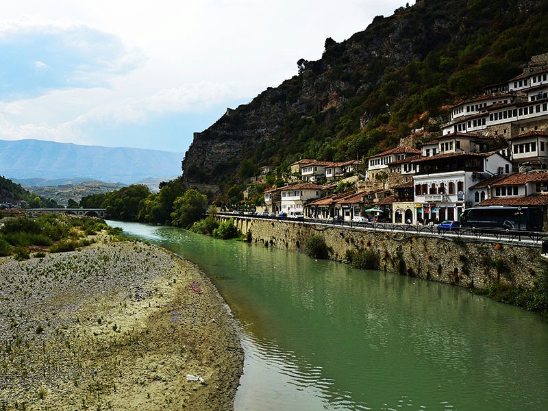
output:
[[[0,175],[16,182],[62,179],[66,184],[66,179],[71,179],[75,183],[134,184],[151,178],[169,180],[182,174],[181,158],[181,153],[170,151],[0,140]]]

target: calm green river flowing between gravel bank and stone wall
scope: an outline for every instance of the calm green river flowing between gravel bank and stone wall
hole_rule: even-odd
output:
[[[469,290],[120,223],[195,262],[242,331],[236,411],[546,410],[548,324]]]

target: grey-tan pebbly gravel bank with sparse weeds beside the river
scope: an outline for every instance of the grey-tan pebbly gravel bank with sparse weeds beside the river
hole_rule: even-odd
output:
[[[169,251],[0,259],[1,410],[232,410],[242,366],[229,308]]]

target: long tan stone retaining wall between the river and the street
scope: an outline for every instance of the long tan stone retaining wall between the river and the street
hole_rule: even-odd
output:
[[[262,247],[304,252],[308,238],[320,234],[338,261],[345,261],[347,250],[372,249],[385,271],[464,287],[486,288],[495,280],[530,287],[545,264],[540,260],[540,245],[527,247],[461,240],[455,236],[390,234],[340,226],[232,218],[242,233],[251,233],[251,241]]]

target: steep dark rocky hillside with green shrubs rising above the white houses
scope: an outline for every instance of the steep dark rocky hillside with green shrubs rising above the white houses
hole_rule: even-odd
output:
[[[421,127],[432,138],[448,105],[546,52],[547,23],[540,0],[423,0],[377,16],[348,40],[327,38],[321,60],[299,60],[297,75],[195,134],[184,181],[227,190],[245,177],[242,165],[353,160]]]

